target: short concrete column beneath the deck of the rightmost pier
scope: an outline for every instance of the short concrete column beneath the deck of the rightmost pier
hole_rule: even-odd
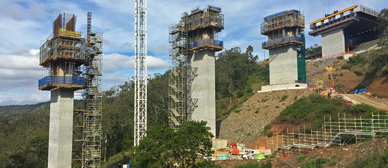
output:
[[[322,34],[322,56],[340,55],[345,52],[345,36],[343,28]]]

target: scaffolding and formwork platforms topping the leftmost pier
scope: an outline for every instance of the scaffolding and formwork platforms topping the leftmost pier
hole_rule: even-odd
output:
[[[39,65],[43,78],[38,88],[51,91],[54,88],[84,88],[85,79],[80,67],[85,57],[80,53],[81,33],[75,32],[76,15],[61,13],[53,23],[53,33],[40,48]]]

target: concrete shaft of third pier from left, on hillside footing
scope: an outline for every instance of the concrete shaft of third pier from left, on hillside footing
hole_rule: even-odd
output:
[[[290,84],[298,80],[297,47],[284,45],[269,49],[269,83]]]

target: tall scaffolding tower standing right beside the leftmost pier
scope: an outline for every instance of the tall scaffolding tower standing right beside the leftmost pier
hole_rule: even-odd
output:
[[[101,167],[102,140],[102,33],[91,32],[91,12],[87,14],[84,76],[85,110],[82,114],[82,167]]]

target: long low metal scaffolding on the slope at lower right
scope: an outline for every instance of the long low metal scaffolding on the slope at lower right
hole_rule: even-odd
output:
[[[287,130],[285,134],[267,137],[266,147],[275,149],[279,155],[301,154],[322,147],[342,147],[351,143],[388,137],[388,115],[373,115],[372,118],[347,118],[345,114],[337,119],[323,119],[321,130],[306,128]]]

